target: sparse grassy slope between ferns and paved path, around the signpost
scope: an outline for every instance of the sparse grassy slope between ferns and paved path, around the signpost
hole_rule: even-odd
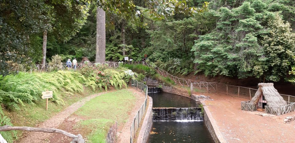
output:
[[[77,102],[88,95],[98,92],[101,92],[101,90],[93,91],[90,88],[84,88],[84,92],[81,94],[63,96],[62,99],[65,101],[64,105],[58,105],[55,102],[49,101],[47,111],[45,110],[46,99],[44,99],[35,103],[34,105],[25,104],[25,106],[20,106],[21,110],[4,110],[4,113],[11,119],[11,122],[14,126],[35,127],[37,124],[44,122],[68,106],[72,105],[74,102]],[[18,137],[20,136],[22,136],[22,131],[18,131]]]

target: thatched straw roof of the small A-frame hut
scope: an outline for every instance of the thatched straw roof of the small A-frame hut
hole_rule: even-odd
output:
[[[267,106],[271,107],[280,107],[287,105],[287,102],[283,99],[283,97],[277,92],[277,90],[273,87],[273,83],[259,83],[258,90],[255,93],[255,96],[251,100],[251,104],[256,104],[263,94],[264,98],[267,102]]]

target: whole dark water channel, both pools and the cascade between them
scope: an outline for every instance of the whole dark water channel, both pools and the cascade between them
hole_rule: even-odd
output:
[[[193,110],[194,107],[199,106],[195,101],[189,98],[171,93],[158,92],[149,93],[148,95],[153,98],[154,113],[155,110],[161,110],[158,107],[175,107],[175,109],[173,108],[171,112],[174,112],[176,115],[179,114],[177,112],[178,110],[183,110],[181,112],[187,113],[189,110]],[[187,110],[185,110],[186,108]],[[169,112],[169,109],[167,111],[166,110],[167,109],[163,109],[163,112],[173,114]],[[208,129],[203,123],[203,120],[199,120],[199,112],[195,112],[194,114],[197,114],[198,120],[196,120],[195,117],[167,121],[166,116],[164,116],[165,121],[155,121],[154,119],[148,143],[214,143]]]

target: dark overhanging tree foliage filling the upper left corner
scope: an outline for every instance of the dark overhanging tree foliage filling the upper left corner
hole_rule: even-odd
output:
[[[1,2],[0,75],[9,73],[8,61],[18,64],[39,62],[41,39],[37,35],[41,36],[45,30],[59,41],[68,41],[84,25],[87,5],[88,1],[84,0]]]

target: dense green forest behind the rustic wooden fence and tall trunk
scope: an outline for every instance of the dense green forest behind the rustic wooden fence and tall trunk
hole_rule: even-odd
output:
[[[32,1],[31,5],[34,2],[37,3]],[[190,0],[186,4],[188,7],[202,7],[204,2]],[[73,10],[68,14],[55,13],[58,4],[53,1],[49,7],[43,7],[55,5],[57,9],[48,15],[55,25],[49,26],[51,29],[47,33],[46,61],[56,54],[62,56],[64,62],[73,57],[79,61],[82,56],[95,61],[96,3],[85,7],[69,4]],[[136,0],[134,5],[134,10],[141,13],[139,17],[105,10],[106,61],[121,61],[124,56],[141,61],[147,54],[149,62],[171,73],[187,75],[194,72],[206,76],[295,82],[293,0],[211,0],[202,12],[167,16],[161,12],[164,18],[150,16],[153,13],[146,9],[152,7],[151,3]],[[72,23],[66,27],[58,26],[69,21]],[[34,29],[30,30],[29,40],[27,37],[23,40],[27,41],[24,46],[30,50],[31,59],[21,63],[31,61],[40,64],[44,31],[34,33]]]

